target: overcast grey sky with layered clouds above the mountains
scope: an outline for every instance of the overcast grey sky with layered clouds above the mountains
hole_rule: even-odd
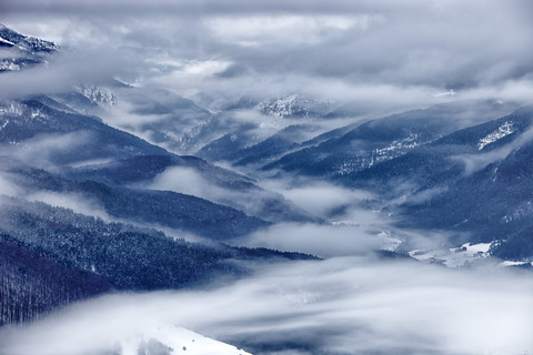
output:
[[[413,104],[450,90],[523,101],[533,93],[526,0],[4,0],[2,8],[0,21],[22,33],[120,58],[123,75],[129,68],[144,84],[190,98],[306,92]]]

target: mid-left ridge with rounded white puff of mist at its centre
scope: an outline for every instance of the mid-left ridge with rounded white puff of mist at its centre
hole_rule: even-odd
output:
[[[70,168],[64,174],[73,180],[92,180],[110,186],[195,195],[269,222],[310,220],[282,195],[194,156],[140,155]]]

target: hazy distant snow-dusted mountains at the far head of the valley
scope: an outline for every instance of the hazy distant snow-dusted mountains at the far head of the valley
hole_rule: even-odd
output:
[[[293,94],[259,103],[241,100],[213,111],[165,90],[131,87],[102,90],[115,99],[115,104],[112,108],[108,104],[108,113],[102,115],[122,115],[125,110],[135,118],[117,121],[119,128],[177,154],[193,154],[210,162],[239,161],[238,165],[254,161],[254,155],[264,151],[262,145],[271,151],[266,154],[272,155],[274,150],[281,154],[292,144],[316,135],[324,130],[320,121],[329,118],[334,108],[325,100]],[[286,146],[278,144],[280,136],[288,141]],[[247,160],[245,155],[251,156]]]

